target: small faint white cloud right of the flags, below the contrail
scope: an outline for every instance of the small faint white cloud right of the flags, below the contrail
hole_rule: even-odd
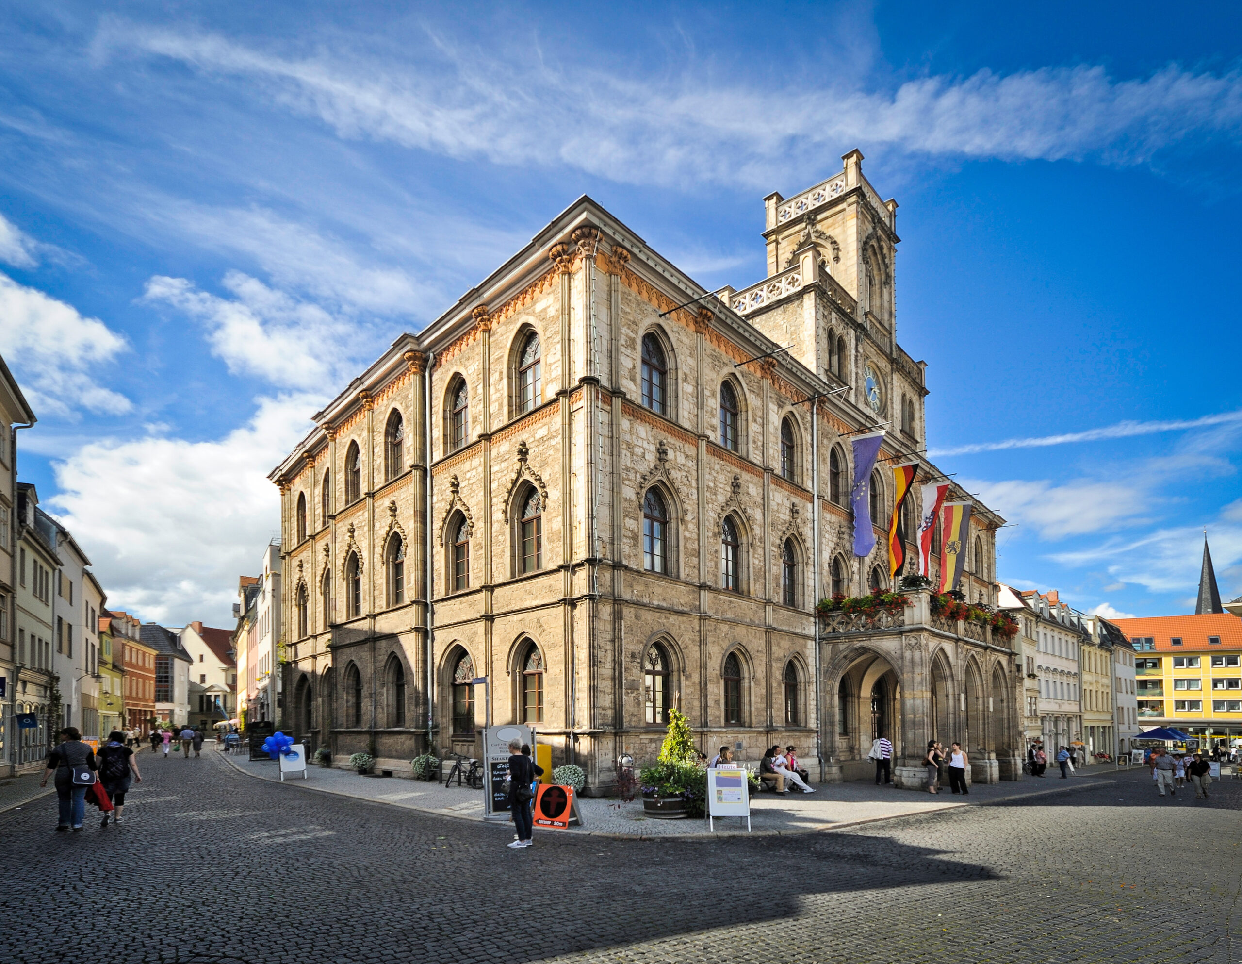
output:
[[[963,481],[977,489],[984,504],[1010,522],[1033,528],[1041,538],[1061,539],[1134,523],[1146,509],[1146,492],[1124,482],[1078,480],[1052,482],[1010,480]]]

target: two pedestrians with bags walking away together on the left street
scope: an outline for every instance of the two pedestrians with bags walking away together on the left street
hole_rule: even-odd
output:
[[[57,737],[63,739],[47,754],[47,765],[40,786],[47,786],[53,779],[56,796],[60,804],[60,821],[56,830],[61,832],[82,832],[86,821],[86,794],[99,783],[112,801],[112,811],[104,811],[101,826],[108,820],[122,822],[125,805],[125,793],[132,781],[143,781],[138,771],[138,757],[125,745],[125,734],[114,729],[108,734],[108,742],[96,753],[88,743],[82,742],[77,727],[66,727]]]

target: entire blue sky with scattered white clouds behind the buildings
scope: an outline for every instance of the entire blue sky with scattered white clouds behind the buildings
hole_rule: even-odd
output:
[[[112,604],[227,624],[308,416],[590,194],[702,284],[859,148],[898,333],[1000,575],[1242,593],[1230,4],[0,6],[21,475]]]

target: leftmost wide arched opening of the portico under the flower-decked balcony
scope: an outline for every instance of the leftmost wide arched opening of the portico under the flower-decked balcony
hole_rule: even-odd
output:
[[[845,668],[830,692],[837,694],[837,733],[833,763],[845,780],[874,780],[876,765],[867,759],[872,740],[887,737],[893,757],[900,748],[900,686],[892,663],[878,653],[863,653]]]

